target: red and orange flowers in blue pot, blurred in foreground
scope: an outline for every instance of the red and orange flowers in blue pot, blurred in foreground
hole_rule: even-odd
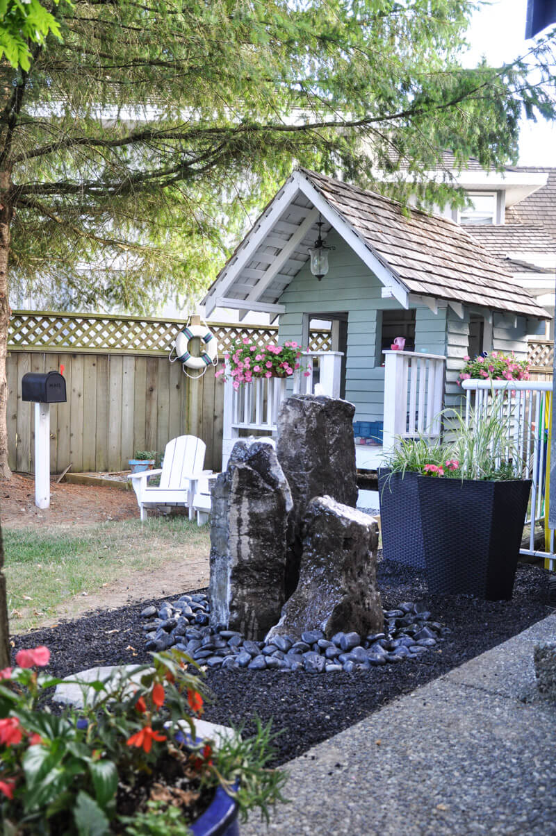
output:
[[[35,670],[48,665],[48,648],[20,650],[15,661],[0,671],[5,836],[237,836],[238,813],[259,807],[268,820],[281,799],[285,774],[265,768],[270,726],[218,746],[196,738],[207,691],[178,651],[152,654],[133,680],[121,668],[80,683],[94,701],[61,714],[44,706],[61,680]]]

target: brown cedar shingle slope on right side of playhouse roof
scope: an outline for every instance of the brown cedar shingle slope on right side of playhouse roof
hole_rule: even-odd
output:
[[[548,314],[466,227],[300,170],[409,293],[546,319]]]

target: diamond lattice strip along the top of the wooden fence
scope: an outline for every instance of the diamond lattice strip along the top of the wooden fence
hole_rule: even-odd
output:
[[[113,314],[55,314],[13,311],[8,330],[8,349],[25,351],[93,352],[100,354],[168,354],[183,319],[115,316]],[[274,325],[254,327],[209,323],[219,344],[219,355],[234,339],[249,337],[258,346],[274,343]],[[311,331],[309,349],[330,348],[329,331]]]

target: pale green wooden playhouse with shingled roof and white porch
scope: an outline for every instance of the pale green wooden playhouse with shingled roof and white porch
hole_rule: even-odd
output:
[[[318,281],[308,250],[321,219],[335,249]],[[417,210],[405,215],[384,196],[303,169],[266,206],[203,303],[207,315],[235,308],[278,318],[281,343],[306,345],[316,321],[330,322],[332,352],[342,355],[337,392],[378,439],[381,425],[389,439],[427,431],[438,406],[459,398],[466,354],[499,349],[524,358],[528,334],[544,333],[550,319],[465,226]],[[395,337],[405,339],[404,352],[389,351]],[[275,401],[261,392],[236,402],[234,432],[257,429],[258,397]],[[271,430],[272,420],[263,425]],[[358,466],[376,466],[379,447],[358,446]]]

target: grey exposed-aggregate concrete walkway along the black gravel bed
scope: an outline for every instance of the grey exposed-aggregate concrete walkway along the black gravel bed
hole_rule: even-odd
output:
[[[286,764],[291,803],[242,836],[556,834],[556,707],[533,670],[554,638],[556,614]]]

